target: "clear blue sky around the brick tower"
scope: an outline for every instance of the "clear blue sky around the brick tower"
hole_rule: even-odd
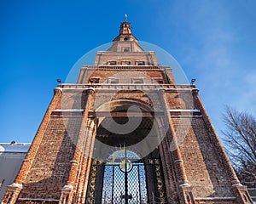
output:
[[[111,42],[128,14],[134,35],[164,48],[189,79],[219,136],[224,105],[256,116],[253,0],[0,1],[0,142],[32,142],[56,78]]]

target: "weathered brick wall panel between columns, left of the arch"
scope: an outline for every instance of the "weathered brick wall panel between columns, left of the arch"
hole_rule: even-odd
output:
[[[67,182],[80,124],[81,120],[77,118],[51,117],[26,178],[24,190],[21,190],[21,198],[60,197],[61,187]]]

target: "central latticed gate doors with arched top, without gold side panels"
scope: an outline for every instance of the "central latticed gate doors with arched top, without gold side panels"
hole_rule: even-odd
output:
[[[146,175],[136,153],[118,150],[105,164],[102,203],[147,203]]]

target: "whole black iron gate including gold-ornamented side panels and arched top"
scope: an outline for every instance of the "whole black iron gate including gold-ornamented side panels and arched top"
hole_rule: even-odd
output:
[[[117,150],[107,162],[92,162],[86,203],[166,203],[160,160],[145,164],[130,150]]]

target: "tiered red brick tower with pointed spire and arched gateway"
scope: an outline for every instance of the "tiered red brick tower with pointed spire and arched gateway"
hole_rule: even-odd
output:
[[[3,203],[253,203],[195,85],[144,51],[126,17],[60,84]]]

